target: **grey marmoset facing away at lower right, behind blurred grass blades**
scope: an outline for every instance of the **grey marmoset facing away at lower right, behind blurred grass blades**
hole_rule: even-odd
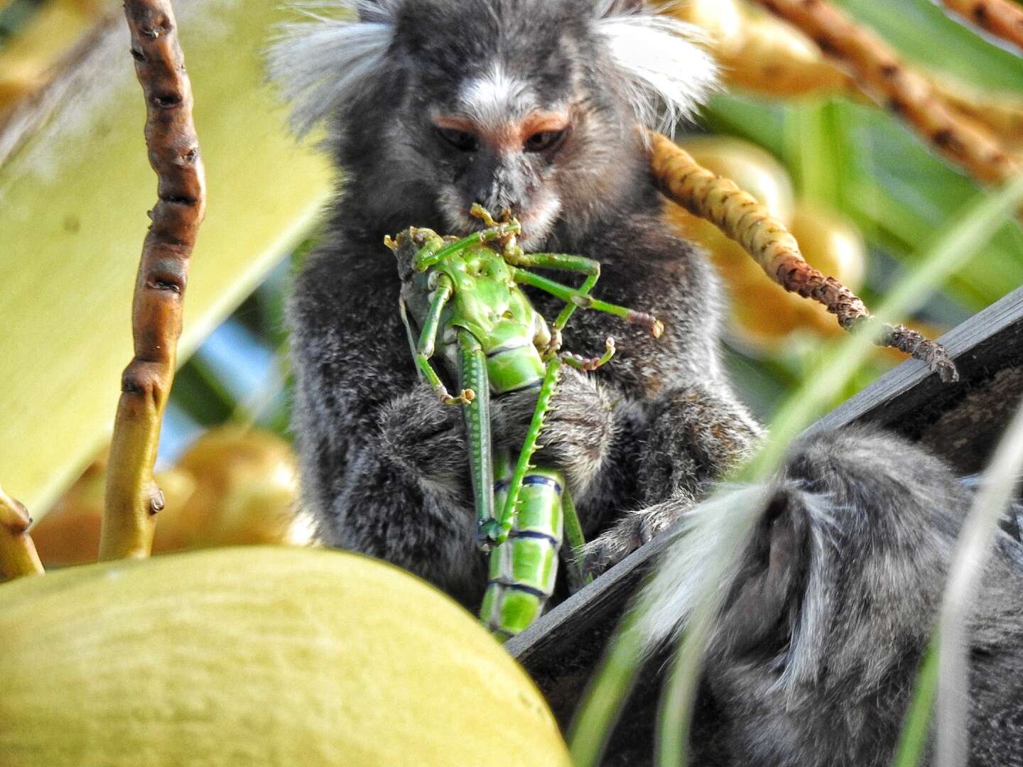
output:
[[[973,494],[920,448],[849,428],[794,446],[768,487],[686,512],[646,593],[646,631],[652,645],[677,636],[700,585],[716,586],[703,685],[716,715],[697,724],[695,763],[890,764]],[[1019,543],[999,534],[985,567],[969,627],[969,764],[1014,767]]]

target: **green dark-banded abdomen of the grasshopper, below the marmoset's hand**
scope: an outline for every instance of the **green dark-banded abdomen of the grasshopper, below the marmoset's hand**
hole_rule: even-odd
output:
[[[511,466],[495,466],[501,478],[494,486],[495,505],[503,505]],[[518,513],[507,540],[490,552],[490,582],[480,618],[499,639],[515,636],[543,612],[558,579],[558,553],[562,545],[562,493],[560,471],[531,469],[523,479]]]

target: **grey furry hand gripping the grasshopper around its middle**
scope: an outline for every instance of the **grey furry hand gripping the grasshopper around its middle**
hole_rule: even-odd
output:
[[[535,408],[535,390],[495,397],[490,407],[495,446],[518,455]],[[579,497],[605,464],[614,437],[610,393],[590,376],[565,370],[543,421],[538,441],[542,447],[533,462],[564,471]]]

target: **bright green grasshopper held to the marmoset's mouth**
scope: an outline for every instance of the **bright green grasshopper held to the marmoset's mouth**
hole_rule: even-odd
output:
[[[505,215],[496,222],[479,205],[472,214],[487,228],[457,239],[412,227],[395,239],[386,237],[385,244],[398,259],[399,308],[419,375],[441,402],[464,408],[477,541],[490,551],[489,584],[480,618],[503,640],[529,626],[553,593],[563,533],[574,551],[584,542],[565,477],[530,461],[562,365],[595,370],[611,359],[615,345],[609,337],[602,356],[580,357],[561,351],[562,330],[577,308],[644,325],[655,337],[664,328],[649,314],[591,298],[589,291],[601,274],[596,261],[564,254],[526,254],[518,244],[522,229],[515,218]],[[573,288],[526,267],[582,272],[586,277],[580,287]],[[533,309],[520,285],[532,285],[565,302],[552,327]],[[457,372],[461,387],[457,395],[448,393],[430,362],[438,350],[448,369]],[[524,390],[536,390],[537,403],[513,465],[510,456],[492,455],[490,395]],[[574,580],[576,585],[582,583],[578,572]]]

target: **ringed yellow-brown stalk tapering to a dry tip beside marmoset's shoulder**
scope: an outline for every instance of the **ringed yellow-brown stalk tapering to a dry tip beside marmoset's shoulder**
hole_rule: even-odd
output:
[[[903,325],[875,319],[848,287],[807,264],[785,225],[733,181],[701,167],[665,136],[652,133],[651,143],[651,167],[664,195],[739,242],[782,287],[821,304],[847,330],[875,325],[871,332],[878,346],[925,361],[942,380],[958,378],[955,365],[940,344]]]

